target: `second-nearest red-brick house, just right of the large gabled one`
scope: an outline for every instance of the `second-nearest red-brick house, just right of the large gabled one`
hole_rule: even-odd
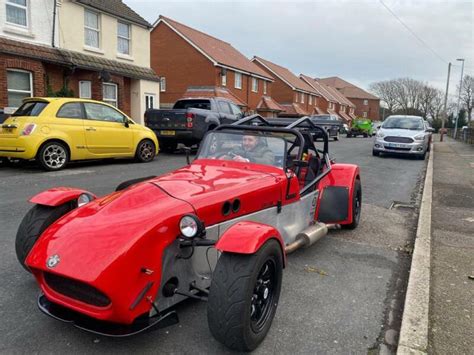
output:
[[[285,108],[282,116],[301,117],[318,113],[321,94],[287,68],[260,57],[252,62],[273,76],[272,97]]]

